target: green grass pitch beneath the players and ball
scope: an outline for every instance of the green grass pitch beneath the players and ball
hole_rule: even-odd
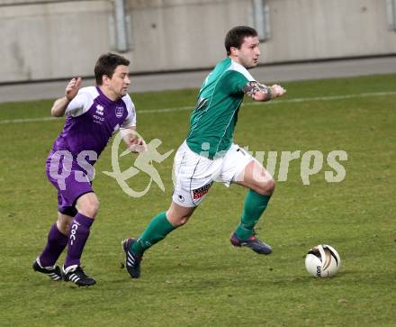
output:
[[[277,183],[257,228],[274,253],[231,247],[246,190],[216,185],[189,223],[148,250],[141,278],[130,279],[120,242],[166,210],[173,155],[155,164],[165,193],[153,184],[132,198],[102,173],[112,171],[109,144],[95,166],[101,208],[82,261],[97,285],[87,289],[31,269],[56,218],[44,162],[63,121],[40,119],[49,117],[52,101],[0,104],[0,325],[395,326],[396,75],[284,86],[287,95],[273,103],[244,103],[235,136],[253,151],[324,155],[310,185],[302,184],[301,158]],[[138,130],[163,142],[160,153],[184,140],[195,96],[196,90],[132,94]],[[347,173],[340,183],[325,179],[332,150],[348,156],[340,162]],[[123,167],[133,159],[124,158]],[[279,158],[275,179],[278,171]],[[142,190],[148,182],[139,173],[129,185]],[[306,251],[320,243],[341,256],[336,277],[315,279],[305,271]]]

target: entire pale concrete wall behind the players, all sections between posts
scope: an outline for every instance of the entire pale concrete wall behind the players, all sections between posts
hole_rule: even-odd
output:
[[[92,76],[113,50],[113,2],[0,0],[0,83]],[[20,3],[21,5],[16,5]],[[252,0],[125,0],[132,72],[210,68],[223,39],[253,24]],[[385,0],[267,0],[261,63],[396,54]]]

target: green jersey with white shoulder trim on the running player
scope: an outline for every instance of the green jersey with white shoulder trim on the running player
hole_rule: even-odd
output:
[[[246,68],[229,58],[216,65],[201,86],[190,118],[186,141],[191,150],[210,159],[229,150],[243,101],[243,87],[254,80]]]

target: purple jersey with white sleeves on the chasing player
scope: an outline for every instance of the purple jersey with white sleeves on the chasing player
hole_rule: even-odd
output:
[[[49,157],[58,150],[67,150],[76,159],[81,151],[89,150],[96,153],[97,159],[113,132],[136,126],[135,107],[130,95],[112,101],[98,86],[81,88],[67,105],[66,115],[63,130]],[[93,165],[96,159],[88,161]]]

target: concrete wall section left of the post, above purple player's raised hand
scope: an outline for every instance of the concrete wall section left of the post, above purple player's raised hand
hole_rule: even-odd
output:
[[[92,75],[110,13],[107,1],[0,7],[0,81]]]

